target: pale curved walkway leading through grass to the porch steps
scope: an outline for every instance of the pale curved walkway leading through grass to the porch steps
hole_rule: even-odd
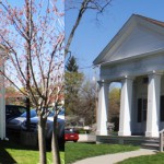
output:
[[[115,164],[117,162],[124,161],[129,157],[140,156],[140,155],[150,155],[155,154],[156,150],[140,149],[131,152],[107,154],[95,157],[89,157],[85,160],[78,161],[73,164]]]

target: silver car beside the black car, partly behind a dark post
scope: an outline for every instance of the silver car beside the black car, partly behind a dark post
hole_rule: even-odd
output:
[[[36,110],[35,109],[31,109],[30,110],[30,116],[31,118],[33,117],[36,117],[37,114],[36,114]],[[22,115],[20,115],[19,117],[15,117],[13,119],[10,119],[7,121],[7,130],[16,130],[16,131],[20,131],[21,130],[21,126],[23,124],[23,121],[26,120],[26,112],[23,113]]]

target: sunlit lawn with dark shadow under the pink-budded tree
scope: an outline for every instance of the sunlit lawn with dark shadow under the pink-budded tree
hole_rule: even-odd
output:
[[[65,164],[65,152],[60,152]],[[0,164],[38,164],[38,150],[28,149],[11,141],[0,141]],[[51,152],[47,152],[47,163],[52,163]]]

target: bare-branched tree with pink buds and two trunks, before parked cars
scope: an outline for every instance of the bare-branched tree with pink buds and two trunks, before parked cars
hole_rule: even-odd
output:
[[[48,106],[56,93],[56,108],[63,87],[63,2],[55,0],[0,1],[0,43],[5,50],[5,71],[0,73],[31,99],[38,115],[39,163],[46,164],[45,129]],[[24,87],[26,90],[21,90]],[[38,98],[39,97],[39,98]],[[59,164],[56,133],[52,160]]]

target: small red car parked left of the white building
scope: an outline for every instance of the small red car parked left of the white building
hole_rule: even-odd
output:
[[[79,140],[79,134],[74,131],[65,130],[65,141],[77,142]]]

